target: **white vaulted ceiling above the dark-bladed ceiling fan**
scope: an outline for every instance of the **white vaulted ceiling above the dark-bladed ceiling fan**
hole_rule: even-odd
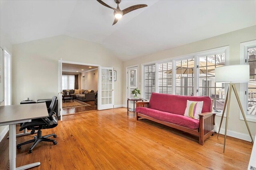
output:
[[[104,0],[116,8],[114,0]],[[0,30],[13,44],[70,35],[102,44],[123,61],[256,25],[256,0],[122,0],[147,4],[116,25],[96,0],[0,1]]]

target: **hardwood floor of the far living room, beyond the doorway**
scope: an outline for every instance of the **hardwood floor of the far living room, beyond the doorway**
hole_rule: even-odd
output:
[[[64,109],[62,109],[62,114],[70,115],[70,114],[82,113],[82,112],[93,111],[93,110],[98,109],[98,106],[96,104],[94,104],[94,101],[87,101],[85,103],[90,104],[90,106],[64,108]]]

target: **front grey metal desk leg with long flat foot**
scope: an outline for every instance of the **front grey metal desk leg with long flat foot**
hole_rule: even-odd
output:
[[[40,162],[28,164],[16,168],[16,124],[9,125],[9,162],[10,170],[26,170],[35,166],[39,166]]]

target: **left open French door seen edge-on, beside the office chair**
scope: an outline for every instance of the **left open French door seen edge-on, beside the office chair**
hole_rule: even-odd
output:
[[[62,58],[58,64],[58,111],[60,111],[60,120],[62,121]]]

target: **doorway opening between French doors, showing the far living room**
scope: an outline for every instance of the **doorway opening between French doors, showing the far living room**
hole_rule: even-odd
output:
[[[62,115],[98,109],[98,66],[62,63]]]

